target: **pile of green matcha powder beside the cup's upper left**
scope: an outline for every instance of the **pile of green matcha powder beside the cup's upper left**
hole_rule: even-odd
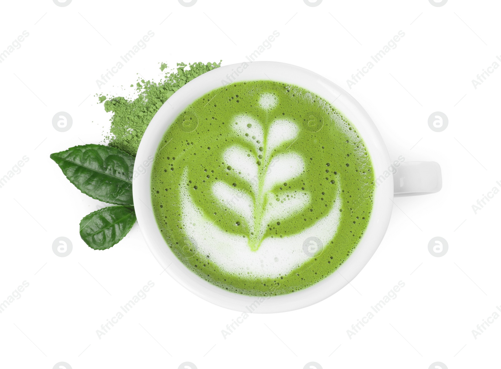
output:
[[[220,65],[221,61],[206,64],[195,62],[185,70],[187,64],[177,63],[177,69],[165,72],[165,79],[160,79],[158,83],[138,80],[135,90],[139,96],[134,100],[122,96],[110,99],[99,96],[99,101],[104,101],[106,112],[113,111],[110,133],[105,135],[109,145],[135,156],[146,127],[162,104],[187,82]],[[167,64],[161,63],[160,70],[164,71],[165,68]]]

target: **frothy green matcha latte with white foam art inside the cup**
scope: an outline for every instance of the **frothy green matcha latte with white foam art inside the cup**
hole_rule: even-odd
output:
[[[165,132],[151,176],[172,252],[246,295],[290,293],[336,270],[367,227],[374,190],[353,124],[320,96],[266,80],[189,105]]]

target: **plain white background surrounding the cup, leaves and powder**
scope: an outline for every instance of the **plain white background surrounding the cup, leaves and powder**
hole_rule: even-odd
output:
[[[0,63],[0,176],[23,156],[29,161],[0,188],[0,301],[24,280],[30,285],[0,314],[0,367],[497,366],[501,319],[476,339],[471,331],[501,304],[501,194],[476,214],[471,205],[501,189],[501,68],[476,89],[471,80],[501,55],[500,8],[493,0],[441,7],[428,0],[315,7],[303,0],[198,0],[191,7],[177,0],[4,1],[0,50],[24,30],[30,35]],[[155,35],[147,47],[99,89],[96,79],[148,30]],[[80,193],[49,154],[102,142],[110,115],[96,93],[128,93],[120,86],[135,83],[136,73],[158,80],[161,61],[241,62],[274,30],[280,36],[259,60],[303,66],[347,89],[376,122],[390,156],[439,162],[443,188],[395,199],[383,242],[351,285],[298,311],[252,314],[224,339],[221,329],[240,313],[161,274],[137,224],[109,250],[80,239],[80,219],[102,204]],[[405,36],[397,47],[349,89],[351,74],[399,30]],[[449,118],[442,132],[427,124],[437,110]],[[67,132],[52,126],[58,111],[73,117]],[[52,250],[59,236],[72,240],[66,257]],[[448,241],[442,257],[428,252],[434,236]],[[147,297],[99,339],[96,329],[149,280],[155,286]],[[400,280],[397,297],[350,339],[347,329]]]

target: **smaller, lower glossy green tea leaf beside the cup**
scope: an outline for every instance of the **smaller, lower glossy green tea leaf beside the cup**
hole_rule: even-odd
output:
[[[95,250],[118,243],[136,222],[134,206],[108,206],[91,212],[80,221],[80,236]]]

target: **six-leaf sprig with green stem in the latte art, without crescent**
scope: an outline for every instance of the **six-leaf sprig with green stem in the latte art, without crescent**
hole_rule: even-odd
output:
[[[230,146],[224,151],[224,161],[253,190],[246,193],[226,182],[218,181],[212,185],[212,191],[219,201],[248,223],[248,245],[255,251],[261,245],[269,222],[283,218],[284,214],[301,210],[310,201],[307,192],[273,192],[276,184],[287,183],[304,172],[305,163],[299,154],[277,150],[281,145],[291,143],[297,137],[299,128],[294,122],[276,120],[265,136],[261,123],[244,114],[235,116],[231,127],[253,149],[249,150],[238,144]],[[280,163],[280,170],[278,165],[273,169],[277,162]],[[234,201],[235,198],[239,200]]]

